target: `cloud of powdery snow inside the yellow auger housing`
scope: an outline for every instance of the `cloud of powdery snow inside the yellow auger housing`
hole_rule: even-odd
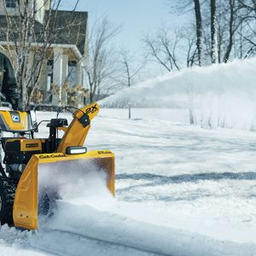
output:
[[[90,197],[109,197],[107,173],[94,160],[60,161],[41,164],[38,169],[39,191],[51,195],[57,191],[62,200],[83,201]]]

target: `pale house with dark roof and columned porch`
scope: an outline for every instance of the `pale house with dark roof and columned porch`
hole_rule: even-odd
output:
[[[32,92],[32,102],[54,106],[84,105],[86,89],[83,67],[86,65],[88,13],[50,9],[49,0],[31,0],[29,6],[24,5],[24,0],[0,0],[0,51],[9,56],[14,67],[17,66],[15,46],[20,44],[15,41],[18,38],[15,35],[19,34],[19,29],[13,26],[10,37],[7,17],[14,20],[12,25],[18,23],[20,9],[25,8],[34,12],[34,36],[30,41],[32,52],[27,69],[32,68],[38,52],[45,50],[44,59],[40,60],[38,87]],[[47,42],[46,26],[50,32]]]

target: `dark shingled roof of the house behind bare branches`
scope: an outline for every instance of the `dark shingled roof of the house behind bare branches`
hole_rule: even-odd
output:
[[[19,17],[11,17],[15,22],[12,22],[13,27],[9,34],[9,41],[15,41],[15,36],[18,35],[18,29],[15,24],[19,24]],[[76,45],[80,53],[84,55],[85,40],[87,32],[87,12],[77,11],[61,11],[50,10],[44,15],[44,24],[49,20],[50,37],[49,44],[69,44]],[[0,15],[0,41],[6,41],[6,30],[8,23],[5,15]],[[15,32],[14,32],[15,31]],[[36,21],[35,23],[36,38],[34,43],[43,43],[44,25]]]

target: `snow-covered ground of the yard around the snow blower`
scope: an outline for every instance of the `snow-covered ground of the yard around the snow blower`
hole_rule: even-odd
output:
[[[1,256],[256,255],[256,133],[202,130],[184,110],[132,117],[102,109],[86,141],[115,153],[116,198],[90,189],[37,232],[3,226]]]

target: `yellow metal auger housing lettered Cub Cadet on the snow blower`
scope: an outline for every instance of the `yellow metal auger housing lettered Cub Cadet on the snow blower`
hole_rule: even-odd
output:
[[[72,155],[62,153],[35,154],[27,164],[16,189],[13,212],[16,227],[28,230],[38,229],[38,164],[44,165],[44,163],[50,164],[67,161],[67,164],[72,165],[72,162],[75,160],[95,160],[100,165],[107,166],[107,168],[102,168],[102,170],[107,172],[106,184],[110,192],[114,195],[114,155],[111,151],[95,150],[86,154]],[[57,171],[53,169],[52,172]],[[58,170],[58,172],[61,172],[61,170]],[[75,172],[75,170],[71,168],[71,172]],[[56,175],[57,179],[58,175]],[[51,180],[52,182],[55,181]]]

